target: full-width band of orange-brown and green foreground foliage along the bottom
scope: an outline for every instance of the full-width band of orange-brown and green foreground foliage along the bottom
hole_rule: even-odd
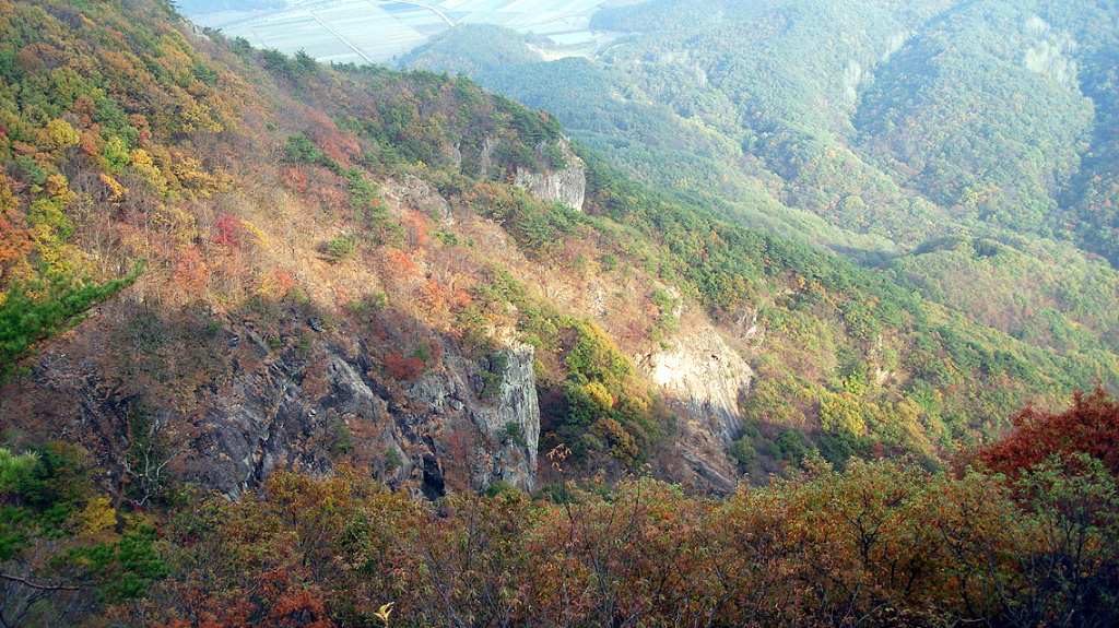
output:
[[[1085,403],[1113,402],[1097,392],[1070,411],[1084,429],[1107,429],[1109,413],[1082,412]],[[318,478],[275,473],[239,503],[186,489],[142,517],[113,511],[81,468],[38,451],[43,467],[9,488],[2,511],[11,523],[0,540],[21,539],[0,555],[0,573],[22,579],[0,582],[7,617],[65,607],[90,624],[328,628],[380,626],[392,602],[391,625],[406,627],[1119,620],[1116,476],[1075,445],[1065,448],[1081,462],[1072,474],[1053,457],[1013,483],[817,462],[723,501],[631,477],[432,503],[342,466]],[[64,523],[38,535],[50,516]],[[112,533],[114,521],[137,531]],[[154,522],[158,535],[135,521]],[[81,549],[91,531],[104,531],[94,553]],[[27,606],[28,582],[59,588]]]

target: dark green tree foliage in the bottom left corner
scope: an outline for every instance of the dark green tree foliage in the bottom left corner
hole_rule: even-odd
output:
[[[81,622],[171,573],[153,520],[111,506],[85,449],[0,448],[0,625]]]

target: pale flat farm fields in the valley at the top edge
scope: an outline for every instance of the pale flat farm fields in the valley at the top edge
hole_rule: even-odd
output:
[[[594,48],[589,30],[606,0],[290,1],[282,10],[187,15],[255,47],[323,63],[385,64],[458,23],[491,23],[546,37],[561,54]]]

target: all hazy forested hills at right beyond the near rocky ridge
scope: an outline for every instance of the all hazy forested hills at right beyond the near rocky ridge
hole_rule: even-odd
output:
[[[1097,2],[653,0],[595,16],[629,34],[598,58],[474,76],[679,202],[874,267],[952,321],[1100,356],[1119,348],[1119,275],[1101,257],[1113,17]],[[405,61],[436,54],[476,53],[449,36]]]

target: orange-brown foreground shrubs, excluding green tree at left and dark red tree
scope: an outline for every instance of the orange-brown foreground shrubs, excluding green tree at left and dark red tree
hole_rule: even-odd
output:
[[[154,617],[186,626],[195,608],[242,608],[214,626],[373,625],[388,601],[394,626],[1071,627],[1119,617],[1115,523],[1085,533],[1072,573],[1060,565],[1075,556],[1052,544],[1068,520],[1021,507],[981,474],[855,463],[725,502],[648,478],[548,494],[430,504],[351,472],[278,474],[261,498],[216,504],[195,522],[206,532],[172,550],[190,558],[151,589]],[[186,598],[180,583],[191,583]]]

